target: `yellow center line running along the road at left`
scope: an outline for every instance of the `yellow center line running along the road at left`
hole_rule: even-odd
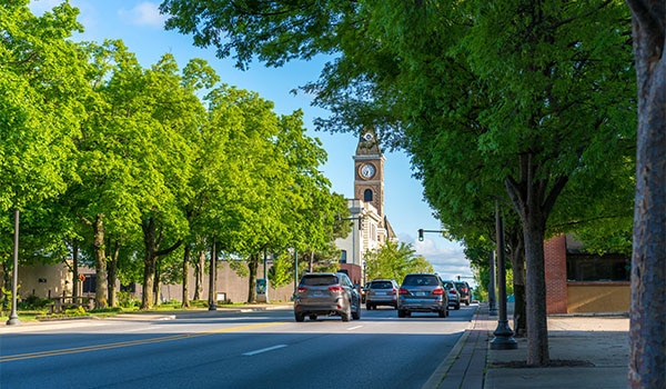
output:
[[[158,338],[119,341],[119,342],[105,343],[105,345],[93,345],[93,346],[73,347],[73,348],[69,348],[69,349],[17,353],[13,356],[0,356],[0,363],[23,360],[23,359],[47,358],[47,357],[56,357],[56,356],[62,356],[62,355],[68,355],[68,353],[111,350],[111,349],[118,349],[118,348],[122,348],[122,347],[132,347],[132,346],[141,346],[141,345],[149,345],[149,343],[160,343],[160,342],[165,342],[165,341],[191,339],[191,338],[204,337],[204,336],[216,335],[216,333],[246,331],[246,330],[252,330],[252,329],[256,329],[256,328],[264,328],[264,327],[271,327],[271,326],[284,325],[284,323],[285,322],[274,321],[274,322],[248,325],[248,326],[240,326],[240,327],[221,328],[221,329],[216,329],[216,330],[212,330],[212,331],[170,335],[170,336],[158,337]]]

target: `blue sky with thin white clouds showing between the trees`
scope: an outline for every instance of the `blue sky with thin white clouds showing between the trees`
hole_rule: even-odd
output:
[[[32,0],[31,9],[40,14],[62,2],[61,0]],[[305,126],[313,128],[316,117],[326,117],[326,111],[310,106],[309,96],[290,91],[307,81],[316,80],[324,63],[322,61],[296,61],[283,68],[264,68],[254,62],[248,71],[233,67],[233,60],[219,59],[214,49],[192,46],[192,39],[175,31],[163,29],[164,17],[159,13],[161,1],[139,0],[70,0],[80,9],[79,21],[85,32],[75,39],[102,42],[104,39],[122,39],[139,61],[149,67],[164,53],[172,53],[179,66],[190,59],[205,59],[222,82],[258,92],[275,104],[278,113],[289,114],[296,109],[304,112]],[[329,153],[323,166],[324,174],[331,180],[332,189],[345,197],[353,196],[353,159],[356,138],[352,134],[310,131],[320,138]],[[444,278],[472,277],[470,262],[460,245],[437,233],[426,233],[424,241],[417,240],[420,228],[438,230],[440,222],[423,200],[423,187],[412,177],[408,158],[402,152],[385,152],[385,213],[401,241],[412,243],[416,253],[423,255]],[[466,280],[473,283],[471,278]]]

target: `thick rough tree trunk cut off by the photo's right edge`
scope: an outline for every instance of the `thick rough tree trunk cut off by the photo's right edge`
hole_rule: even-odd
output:
[[[638,82],[629,372],[632,388],[666,387],[666,6],[627,0]]]

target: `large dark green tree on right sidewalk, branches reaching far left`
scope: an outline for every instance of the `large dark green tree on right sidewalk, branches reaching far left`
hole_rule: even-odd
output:
[[[633,138],[627,10],[619,1],[450,6],[233,2],[212,9],[167,0],[162,10],[172,16],[168,28],[193,33],[196,44],[216,46],[221,56],[233,52],[240,67],[253,58],[280,66],[339,53],[305,88],[333,112],[319,124],[333,131],[373,126],[384,140],[393,134],[394,144],[422,154],[417,169],[438,168],[433,179],[452,182],[452,166],[437,157],[473,153],[478,164],[465,164],[462,177],[481,172],[490,183],[483,192],[502,188],[521,220],[527,363],[547,365],[548,217],[577,171],[598,173]],[[451,202],[463,200],[457,193]]]

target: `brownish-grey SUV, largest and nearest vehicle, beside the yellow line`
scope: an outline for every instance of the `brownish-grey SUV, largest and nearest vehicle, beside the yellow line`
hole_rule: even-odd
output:
[[[307,273],[301,278],[294,299],[296,321],[317,316],[340,316],[342,321],[361,319],[361,296],[345,273]]]

